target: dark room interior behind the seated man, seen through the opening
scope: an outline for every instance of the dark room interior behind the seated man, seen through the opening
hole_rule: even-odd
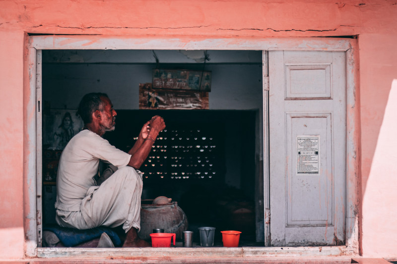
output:
[[[167,196],[177,201],[188,216],[188,230],[196,231],[196,235],[199,226],[215,226],[217,231],[239,229],[243,231],[242,240],[245,240],[246,246],[264,245],[263,241],[256,241],[255,181],[258,177],[255,176],[257,173],[255,166],[258,160],[255,158],[255,153],[258,152],[256,138],[259,130],[256,126],[260,126],[260,123],[257,120],[258,109],[254,107],[253,110],[253,106],[256,106],[253,102],[249,102],[245,107],[240,106],[242,110],[235,109],[236,103],[233,102],[226,104],[226,107],[217,109],[215,106],[215,109],[210,110],[160,111],[138,110],[136,106],[131,107],[131,104],[118,106],[116,102],[121,102],[120,94],[138,89],[138,87],[123,87],[130,80],[120,79],[121,75],[127,76],[124,78],[128,79],[131,71],[126,70],[126,67],[135,67],[137,64],[98,62],[101,60],[101,55],[98,54],[105,51],[71,52],[82,58],[87,58],[87,53],[90,53],[94,57],[91,63],[62,62],[63,59],[67,60],[67,56],[57,57],[59,52],[62,53],[62,51],[43,51],[43,132],[48,122],[55,123],[50,115],[54,110],[59,111],[58,117],[64,117],[65,111],[70,112],[73,125],[81,126],[75,119],[77,117],[73,111],[82,95],[93,91],[108,93],[115,108],[121,107],[117,110],[116,130],[105,134],[105,138],[119,149],[131,148],[136,140],[133,137],[151,116],[155,114],[163,116],[167,128],[159,134],[152,152],[140,168],[144,177],[142,199]],[[117,51],[106,52],[117,53]],[[95,60],[95,55],[99,56],[99,59],[96,57]],[[243,72],[252,72],[256,69],[255,83],[252,76],[248,77],[250,81],[241,77],[239,80],[241,83],[234,85],[233,89],[240,96],[245,93],[256,93],[254,97],[260,98],[257,106],[262,106],[262,52],[257,52],[257,55],[260,62],[216,63],[215,66],[207,63],[206,68],[219,70],[218,76],[221,79],[230,78],[230,75],[236,75],[239,71],[241,76],[244,76]],[[149,70],[148,75],[151,75],[151,69],[155,66],[153,63],[138,64],[140,68]],[[190,69],[202,67],[200,64],[188,63],[164,65]],[[106,67],[108,68],[105,69]],[[103,77],[101,73],[104,72],[110,77]],[[81,77],[83,75],[84,78]],[[107,82],[107,85],[102,82]],[[144,83],[147,80],[140,82]],[[81,88],[73,85],[76,83],[86,87],[86,91],[79,92]],[[231,89],[232,84],[222,85],[229,85],[227,89]],[[253,88],[252,86],[255,85],[256,88]],[[105,86],[108,90],[102,91]],[[226,98],[229,93],[227,89],[224,91]],[[248,91],[244,92],[245,89]],[[129,94],[130,98],[133,99],[134,96]],[[216,96],[210,95],[210,100],[215,98]],[[137,96],[135,99],[137,103]],[[238,101],[236,101],[237,105]],[[221,101],[217,99],[216,102]],[[58,124],[53,125],[53,127],[57,126]],[[44,139],[45,135],[43,135],[42,182],[43,225],[47,225],[55,223],[56,172],[62,147],[59,149],[51,147]],[[220,232],[217,233],[215,241],[221,244]],[[197,239],[195,237],[196,242]]]

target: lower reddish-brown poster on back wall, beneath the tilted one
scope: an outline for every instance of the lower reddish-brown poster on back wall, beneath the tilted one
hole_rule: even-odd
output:
[[[153,89],[139,84],[139,109],[208,109],[208,92]]]

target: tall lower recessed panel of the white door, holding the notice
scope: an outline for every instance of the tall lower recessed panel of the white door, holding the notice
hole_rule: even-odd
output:
[[[324,169],[331,168],[331,113],[287,114],[287,226],[310,226],[332,224],[332,182]],[[303,137],[302,135],[314,136]],[[299,140],[299,143],[297,141]],[[307,143],[305,143],[307,142]],[[307,151],[298,155],[303,144],[315,145],[320,155]],[[318,147],[317,147],[317,146]],[[300,151],[299,151],[300,153]],[[305,157],[308,156],[308,157]],[[314,157],[313,160],[301,160]],[[316,157],[317,156],[317,157]],[[316,159],[317,158],[317,159]],[[300,162],[298,162],[298,159]],[[308,165],[315,165],[308,168]],[[321,164],[325,164],[321,167]],[[320,173],[316,173],[317,170]],[[309,173],[305,173],[309,171]],[[306,208],[305,213],[301,213]]]

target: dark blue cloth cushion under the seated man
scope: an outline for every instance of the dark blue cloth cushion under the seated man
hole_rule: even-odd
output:
[[[121,246],[119,235],[109,227],[100,226],[91,229],[73,229],[61,226],[46,226],[43,231],[54,232],[65,247],[74,247],[78,244],[101,237],[102,233],[108,234],[115,247]]]

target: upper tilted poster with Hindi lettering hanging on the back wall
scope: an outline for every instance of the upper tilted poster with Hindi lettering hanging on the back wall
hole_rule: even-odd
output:
[[[193,70],[153,70],[153,88],[211,92],[211,72]]]

